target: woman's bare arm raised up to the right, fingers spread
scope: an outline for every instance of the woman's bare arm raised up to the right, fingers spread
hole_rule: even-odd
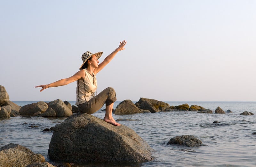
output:
[[[123,40],[122,42],[120,42],[119,47],[117,47],[114,52],[112,52],[111,54],[109,54],[104,60],[103,62],[101,62],[99,64],[98,68],[95,68],[93,73],[96,75],[98,72],[100,72],[100,70],[102,70],[117,54],[117,52],[119,52],[120,50],[124,50],[124,46],[126,44],[126,41]]]

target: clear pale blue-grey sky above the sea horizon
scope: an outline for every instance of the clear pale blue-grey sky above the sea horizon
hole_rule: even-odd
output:
[[[255,101],[256,0],[1,0],[0,85],[11,101],[76,101],[85,51],[117,101]]]

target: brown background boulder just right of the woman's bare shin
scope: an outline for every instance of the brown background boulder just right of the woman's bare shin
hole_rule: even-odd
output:
[[[116,110],[114,114],[121,115],[121,114],[135,114],[135,113],[143,113],[140,111],[136,105],[132,102],[132,100],[124,100],[116,106]]]

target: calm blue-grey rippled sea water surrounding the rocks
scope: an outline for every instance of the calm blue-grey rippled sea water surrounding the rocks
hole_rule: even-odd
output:
[[[33,102],[14,102],[23,106]],[[70,102],[75,105],[75,102]],[[120,102],[115,102],[114,108]],[[152,162],[136,164],[74,164],[76,166],[256,166],[256,117],[243,116],[249,111],[256,114],[256,102],[167,102],[170,105],[200,105],[215,110],[220,106],[228,114],[202,114],[196,112],[158,112],[133,115],[115,115],[114,119],[138,119],[136,121],[119,121],[132,128],[154,149]],[[105,106],[103,107],[105,108]],[[102,109],[103,109],[102,108]],[[104,112],[98,111],[93,116],[103,119]],[[47,158],[48,146],[52,132],[44,132],[60,124],[66,118],[12,117],[0,120],[0,147],[11,142],[42,154],[46,161],[60,165]],[[213,123],[219,121],[220,123]],[[29,127],[29,126],[38,127]],[[175,136],[194,135],[204,146],[185,147],[167,144]]]

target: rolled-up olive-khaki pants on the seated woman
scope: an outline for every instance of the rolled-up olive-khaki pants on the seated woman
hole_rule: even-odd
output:
[[[96,95],[94,98],[91,98],[89,101],[78,105],[78,111],[80,113],[92,114],[98,111],[104,104],[106,106],[111,105],[116,101],[116,91],[108,87]]]

